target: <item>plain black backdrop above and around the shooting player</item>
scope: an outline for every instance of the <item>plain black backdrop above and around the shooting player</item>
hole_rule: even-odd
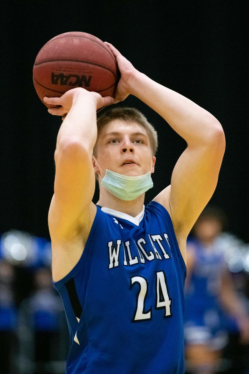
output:
[[[231,232],[248,233],[247,1],[5,1],[1,22],[0,233],[9,229],[49,239],[53,154],[61,120],[47,113],[32,83],[41,47],[67,31],[112,43],[133,65],[210,111],[222,124],[226,151],[212,204]],[[159,151],[149,202],[170,184],[185,141],[134,96],[155,125]],[[97,201],[97,188],[94,202]]]

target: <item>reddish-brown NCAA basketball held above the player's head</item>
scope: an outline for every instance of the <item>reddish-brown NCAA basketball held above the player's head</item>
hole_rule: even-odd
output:
[[[115,56],[102,40],[82,32],[69,32],[49,40],[38,53],[33,67],[37,95],[60,97],[83,87],[101,96],[114,96],[119,79]]]

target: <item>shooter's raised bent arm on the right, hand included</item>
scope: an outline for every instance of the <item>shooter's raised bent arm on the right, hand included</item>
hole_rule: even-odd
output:
[[[115,101],[129,93],[137,96],[187,142],[172,172],[171,185],[154,199],[168,209],[175,233],[185,240],[217,186],[225,150],[224,131],[208,111],[140,73],[118,50],[107,45],[121,71]]]

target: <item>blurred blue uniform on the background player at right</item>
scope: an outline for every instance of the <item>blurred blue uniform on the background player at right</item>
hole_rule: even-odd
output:
[[[224,316],[218,295],[225,270],[224,253],[214,243],[205,248],[197,239],[189,239],[194,251],[194,267],[185,290],[184,330],[186,343],[224,344]]]

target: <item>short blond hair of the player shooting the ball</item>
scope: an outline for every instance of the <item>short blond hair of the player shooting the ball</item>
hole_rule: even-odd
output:
[[[147,121],[146,117],[136,108],[118,107],[106,111],[106,113],[102,114],[102,116],[100,116],[97,119],[97,140],[93,148],[94,157],[97,157],[97,143],[103,128],[106,125],[108,125],[109,122],[115,119],[121,119],[126,122],[137,122],[139,125],[143,126],[149,137],[152,156],[155,156],[156,151],[158,149],[158,135],[154,127]]]

